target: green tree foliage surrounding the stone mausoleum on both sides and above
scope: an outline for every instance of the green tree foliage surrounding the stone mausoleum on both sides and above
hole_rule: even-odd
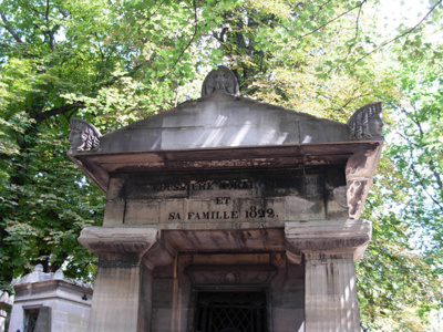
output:
[[[65,155],[72,116],[102,133],[199,96],[210,68],[243,95],[346,122],[383,101],[389,141],[358,266],[362,323],[422,331],[442,305],[441,1],[385,37],[367,1],[3,0],[0,282],[43,263],[90,278],[78,242],[103,195]]]

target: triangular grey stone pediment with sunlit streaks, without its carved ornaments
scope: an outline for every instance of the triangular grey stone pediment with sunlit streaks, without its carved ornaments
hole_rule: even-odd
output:
[[[346,124],[224,92],[101,137],[97,152],[230,148],[347,142]]]

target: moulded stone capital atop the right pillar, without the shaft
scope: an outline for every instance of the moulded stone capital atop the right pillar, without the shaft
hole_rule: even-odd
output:
[[[367,220],[312,220],[285,224],[287,257],[297,263],[300,252],[351,252],[357,261],[372,236]]]

